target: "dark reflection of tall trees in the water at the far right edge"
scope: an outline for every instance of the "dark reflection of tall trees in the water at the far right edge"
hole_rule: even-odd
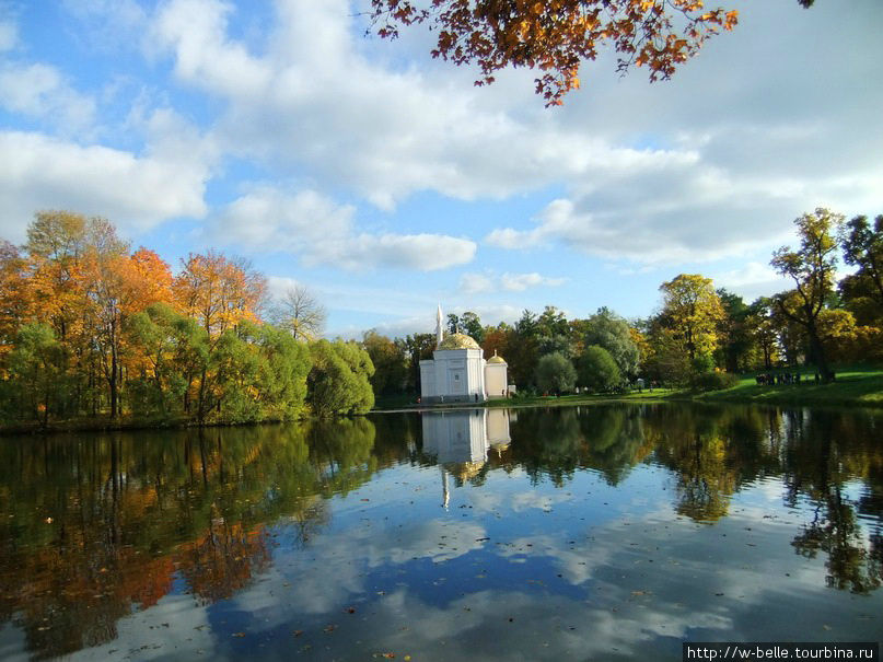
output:
[[[814,504],[813,519],[791,543],[798,554],[815,558],[827,554],[825,581],[829,586],[869,593],[880,586],[883,568],[880,520],[865,536],[858,520],[857,503],[844,493],[845,484],[862,477],[872,491],[883,462],[879,444],[857,435],[853,417],[827,411],[789,411],[788,501],[795,504],[805,495]]]

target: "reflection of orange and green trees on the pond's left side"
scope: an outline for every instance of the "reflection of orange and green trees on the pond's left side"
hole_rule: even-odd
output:
[[[2,440],[0,624],[54,658],[116,638],[176,571],[206,602],[230,596],[270,562],[267,524],[306,545],[326,498],[370,478],[373,442],[367,419]]]

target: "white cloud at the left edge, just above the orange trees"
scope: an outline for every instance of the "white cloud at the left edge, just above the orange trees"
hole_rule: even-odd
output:
[[[71,209],[103,216],[124,232],[146,230],[178,216],[201,217],[208,166],[162,155],[136,156],[105,147],[81,147],[38,133],[0,132],[0,235],[21,241],[33,213]]]

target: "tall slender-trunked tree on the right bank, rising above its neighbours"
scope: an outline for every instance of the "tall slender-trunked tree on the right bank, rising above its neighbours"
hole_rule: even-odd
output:
[[[779,312],[805,329],[812,360],[825,382],[832,379],[818,316],[825,299],[832,292],[834,270],[837,266],[837,241],[835,234],[844,220],[843,214],[818,208],[794,219],[800,237],[800,247],[782,246],[772,254],[770,265],[782,276],[794,281],[794,290],[777,294]],[[791,298],[794,306],[787,304]]]

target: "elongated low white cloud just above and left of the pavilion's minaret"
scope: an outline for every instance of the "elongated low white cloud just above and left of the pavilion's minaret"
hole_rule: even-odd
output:
[[[219,218],[213,231],[229,245],[290,252],[307,266],[344,269],[394,267],[433,271],[470,262],[475,242],[444,234],[372,234],[353,229],[356,208],[336,205],[314,190],[288,195],[258,186]]]

